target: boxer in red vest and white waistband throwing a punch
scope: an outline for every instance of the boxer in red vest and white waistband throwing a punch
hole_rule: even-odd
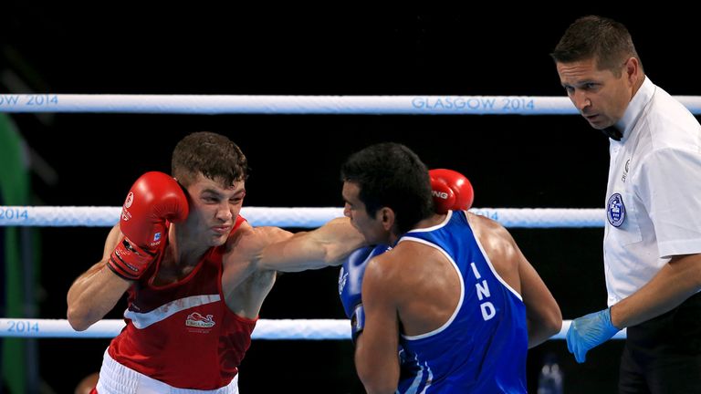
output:
[[[198,132],[173,150],[173,177],[147,172],[131,187],[102,260],[68,290],[76,330],[129,296],[93,392],[238,392],[277,272],[340,264],[364,243],[347,218],[309,233],[254,228],[239,216],[246,171],[234,142]]]

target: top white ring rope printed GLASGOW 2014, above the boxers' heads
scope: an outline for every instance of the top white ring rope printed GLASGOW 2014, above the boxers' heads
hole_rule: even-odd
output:
[[[701,97],[675,96],[701,114]],[[546,96],[200,96],[0,94],[0,112],[159,114],[571,115],[570,99]]]

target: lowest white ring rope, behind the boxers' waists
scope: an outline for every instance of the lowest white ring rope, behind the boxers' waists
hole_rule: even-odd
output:
[[[550,339],[564,339],[571,320],[563,320],[560,333]],[[105,319],[85,331],[75,331],[65,319],[0,318],[0,337],[110,338],[116,337],[124,320]],[[614,338],[625,337],[625,330]],[[348,319],[260,319],[253,339],[351,339]]]

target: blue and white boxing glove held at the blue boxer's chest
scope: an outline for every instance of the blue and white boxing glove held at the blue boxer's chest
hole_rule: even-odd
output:
[[[340,267],[339,296],[340,302],[346,311],[346,316],[351,318],[351,337],[353,342],[361,334],[365,327],[365,310],[362,307],[362,275],[365,275],[365,267],[372,257],[378,256],[390,250],[387,245],[366,246],[351,253]]]

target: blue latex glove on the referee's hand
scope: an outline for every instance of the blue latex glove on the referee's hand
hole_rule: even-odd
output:
[[[578,317],[567,330],[567,349],[578,363],[583,363],[592,347],[598,347],[619,331],[611,323],[611,308]]]

